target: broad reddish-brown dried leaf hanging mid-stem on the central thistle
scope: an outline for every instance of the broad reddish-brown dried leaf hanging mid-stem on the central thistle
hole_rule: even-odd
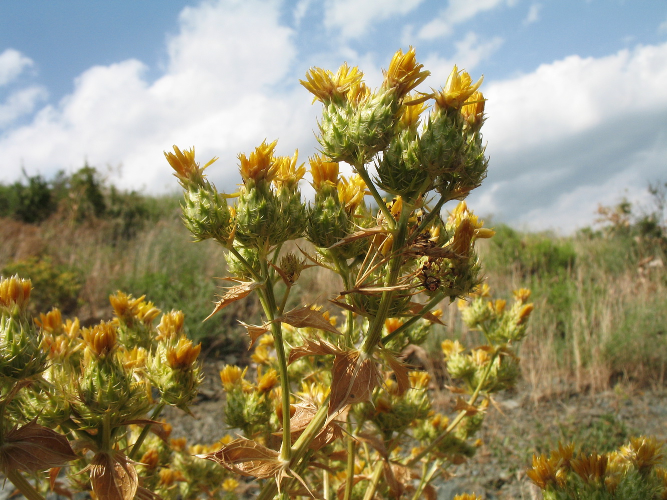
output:
[[[380,383],[382,377],[374,359],[356,349],[336,355],[331,367],[329,418],[347,405],[370,399]]]

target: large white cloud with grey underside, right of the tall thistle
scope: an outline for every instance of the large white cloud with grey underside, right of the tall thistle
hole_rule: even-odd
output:
[[[490,83],[479,209],[532,227],[590,224],[598,203],[664,178],[667,44],[567,57]]]

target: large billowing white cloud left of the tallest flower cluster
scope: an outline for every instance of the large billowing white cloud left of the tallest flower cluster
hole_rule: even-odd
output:
[[[209,175],[227,189],[237,181],[237,153],[265,137],[283,137],[279,154],[314,149],[315,110],[305,90],[277,90],[295,57],[278,7],[225,0],[184,9],[167,70],[153,82],[136,60],[88,69],[58,105],[0,136],[0,181],[13,181],[21,165],[49,177],[87,159],[102,168],[122,164],[123,177],[111,177],[120,187],[174,189],[162,151],[177,144],[196,145],[201,161],[219,156]]]

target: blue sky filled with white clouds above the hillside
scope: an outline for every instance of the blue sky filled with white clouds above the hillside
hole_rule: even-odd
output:
[[[195,145],[225,191],[265,138],[315,151],[312,65],[370,85],[416,47],[440,87],[455,63],[488,98],[480,215],[572,231],[598,203],[667,181],[667,2],[49,0],[0,6],[0,182],[84,161],[125,189],[175,190],[162,151]],[[304,193],[308,191],[304,186]]]

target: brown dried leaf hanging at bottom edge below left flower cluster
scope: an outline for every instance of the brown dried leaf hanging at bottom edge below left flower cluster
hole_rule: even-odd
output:
[[[98,452],[87,469],[98,500],[132,500],[139,478],[133,462],[120,451]]]

